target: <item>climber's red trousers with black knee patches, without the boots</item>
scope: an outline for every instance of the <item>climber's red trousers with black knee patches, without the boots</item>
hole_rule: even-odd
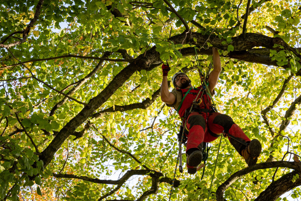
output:
[[[186,152],[189,149],[200,149],[200,144],[203,142],[212,142],[216,140],[217,136],[214,134],[220,134],[223,131],[236,137],[241,142],[250,142],[251,140],[244,134],[237,124],[235,124],[231,117],[221,114],[219,112],[205,113],[192,112],[186,121],[186,130],[188,134],[185,134],[187,139]],[[212,133],[212,134],[210,134]],[[237,143],[236,140],[229,138],[230,143],[241,155],[241,150],[246,146],[242,143]],[[199,147],[199,148],[198,148]],[[201,150],[202,151],[202,150]]]

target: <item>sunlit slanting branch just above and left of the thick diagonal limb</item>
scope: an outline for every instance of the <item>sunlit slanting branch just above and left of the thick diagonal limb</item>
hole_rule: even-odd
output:
[[[111,55],[112,52],[105,52],[104,55],[101,58],[107,58],[109,55]],[[99,69],[101,68],[102,61],[99,61],[96,67],[91,71],[88,75],[86,75],[84,78],[76,82],[76,85],[66,94],[67,96],[72,96],[80,86],[82,86],[88,79],[90,79],[93,75],[95,75]],[[64,97],[60,102],[55,104],[53,108],[51,109],[49,116],[52,116],[54,112],[57,110],[57,108],[64,105],[64,103],[67,101],[67,97]]]

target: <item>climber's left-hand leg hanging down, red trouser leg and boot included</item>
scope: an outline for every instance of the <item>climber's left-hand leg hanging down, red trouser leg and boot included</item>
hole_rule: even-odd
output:
[[[204,134],[206,131],[206,121],[202,115],[192,112],[186,121],[187,135],[187,169],[189,174],[197,171],[197,166],[202,162],[202,149]]]

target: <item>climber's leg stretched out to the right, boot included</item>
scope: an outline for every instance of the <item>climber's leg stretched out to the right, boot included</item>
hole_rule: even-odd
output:
[[[231,117],[218,112],[211,113],[208,118],[208,129],[216,134],[224,131],[233,136],[234,139],[229,136],[228,139],[237,152],[244,157],[246,163],[249,166],[256,164],[261,152],[260,142],[257,139],[250,140]]]

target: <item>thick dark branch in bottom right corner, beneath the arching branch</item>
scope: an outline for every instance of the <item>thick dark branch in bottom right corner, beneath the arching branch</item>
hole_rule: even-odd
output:
[[[298,174],[299,177],[293,182],[293,177]],[[301,172],[292,171],[283,175],[277,181],[273,181],[254,201],[277,200],[283,193],[301,185]]]

